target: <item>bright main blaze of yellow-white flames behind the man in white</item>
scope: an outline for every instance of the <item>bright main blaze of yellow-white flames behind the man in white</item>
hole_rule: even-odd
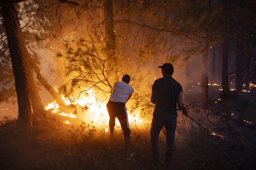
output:
[[[108,125],[109,116],[106,104],[104,102],[99,102],[96,100],[96,94],[92,89],[87,89],[87,92],[83,95],[80,95],[79,99],[77,100],[74,100],[73,98],[65,98],[63,95],[61,95],[61,97],[67,106],[72,104],[73,106],[76,106],[76,108],[82,108],[82,110],[78,110],[78,115],[74,115],[73,113],[60,113],[60,106],[56,103],[56,101],[49,103],[47,106],[44,107],[44,109],[52,110],[52,113],[58,113],[61,116],[79,118],[82,121],[92,122],[96,127]],[[149,122],[140,119],[138,111],[136,111],[135,113],[128,113],[128,117],[130,123],[135,122],[138,124]],[[71,124],[69,121],[66,121],[65,123]],[[120,125],[119,121],[116,121],[116,124]],[[108,129],[106,128],[105,132],[107,131]]]

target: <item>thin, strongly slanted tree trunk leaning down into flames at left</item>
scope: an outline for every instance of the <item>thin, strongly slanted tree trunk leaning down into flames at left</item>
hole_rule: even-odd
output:
[[[28,61],[31,64],[31,66],[34,68],[36,71],[36,78],[40,81],[40,83],[44,86],[48,92],[51,93],[52,97],[56,100],[56,102],[60,106],[66,106],[64,101],[62,100],[60,94],[56,92],[56,90],[45,80],[45,78],[42,75],[42,72],[40,68],[36,65],[36,63],[33,61],[33,59],[28,55]]]

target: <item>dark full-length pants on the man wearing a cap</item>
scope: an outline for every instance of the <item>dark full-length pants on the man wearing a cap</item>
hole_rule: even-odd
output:
[[[171,165],[172,162],[172,151],[174,149],[174,138],[175,130],[177,126],[176,114],[161,113],[153,115],[150,135],[151,135],[151,146],[154,164],[159,165],[159,152],[158,152],[158,137],[160,131],[165,127],[166,129],[166,151],[165,151],[165,164]]]

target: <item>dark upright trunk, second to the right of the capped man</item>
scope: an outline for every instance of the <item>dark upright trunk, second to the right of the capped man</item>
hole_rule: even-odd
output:
[[[228,84],[228,33],[226,32],[222,40],[222,66],[221,66],[221,86],[225,97],[229,94]]]

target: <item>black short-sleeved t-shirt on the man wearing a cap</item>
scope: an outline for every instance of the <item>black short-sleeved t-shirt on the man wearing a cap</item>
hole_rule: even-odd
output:
[[[183,92],[179,82],[171,76],[158,78],[152,90],[156,94],[156,106],[154,112],[171,112],[176,114],[177,98],[180,92]]]

